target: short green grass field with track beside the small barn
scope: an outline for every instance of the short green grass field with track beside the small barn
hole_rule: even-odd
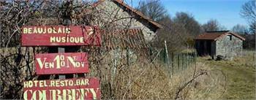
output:
[[[244,55],[233,61],[208,60],[210,57],[199,57],[197,61],[225,73],[226,91],[220,99],[256,99],[254,54],[252,51],[245,51]]]

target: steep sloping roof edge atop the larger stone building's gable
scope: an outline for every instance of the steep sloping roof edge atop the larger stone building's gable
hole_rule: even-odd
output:
[[[103,1],[105,1],[105,0],[97,1],[96,3],[93,4],[93,7],[97,7]],[[115,3],[121,4],[121,6],[126,7],[130,11],[134,12],[136,15],[139,15],[144,20],[147,20],[149,23],[151,23],[152,25],[156,26],[157,28],[162,28],[162,25],[160,25],[159,23],[155,22],[154,20],[151,20],[150,18],[146,17],[146,15],[143,15],[143,13],[138,11],[137,9],[129,7],[129,5],[125,4],[123,0],[112,0],[112,1],[114,1]]]

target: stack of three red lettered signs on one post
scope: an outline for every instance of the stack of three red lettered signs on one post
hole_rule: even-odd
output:
[[[73,78],[89,72],[88,54],[65,53],[67,46],[101,45],[98,27],[23,26],[21,45],[53,48],[35,55],[36,73],[42,77],[23,82],[23,99],[100,99],[99,80]],[[59,74],[59,80],[47,80],[49,74]]]

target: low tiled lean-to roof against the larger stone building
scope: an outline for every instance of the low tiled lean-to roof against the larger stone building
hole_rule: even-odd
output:
[[[140,28],[102,32],[102,45],[108,49],[148,47]]]

